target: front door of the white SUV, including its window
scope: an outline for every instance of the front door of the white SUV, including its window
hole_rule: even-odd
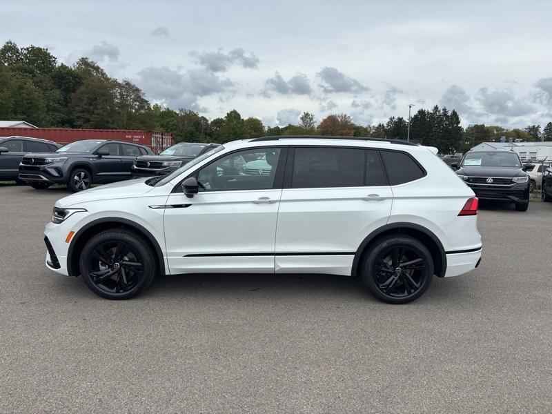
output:
[[[286,148],[240,150],[195,172],[194,197],[175,188],[165,206],[170,273],[273,273],[285,158]]]

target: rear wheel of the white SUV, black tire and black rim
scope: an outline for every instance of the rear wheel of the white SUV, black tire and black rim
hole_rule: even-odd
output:
[[[388,304],[407,304],[431,285],[433,257],[414,237],[388,235],[371,245],[361,276],[364,286],[377,299]]]

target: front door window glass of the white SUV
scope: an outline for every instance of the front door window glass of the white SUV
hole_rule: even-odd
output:
[[[254,148],[217,159],[197,172],[199,191],[273,188],[280,148]]]

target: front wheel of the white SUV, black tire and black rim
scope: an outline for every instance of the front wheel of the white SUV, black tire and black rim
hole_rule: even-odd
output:
[[[130,230],[105,230],[90,238],[79,258],[86,286],[106,299],[130,299],[157,275],[157,256],[148,240]]]

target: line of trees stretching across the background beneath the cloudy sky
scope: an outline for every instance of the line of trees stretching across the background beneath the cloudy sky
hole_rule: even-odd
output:
[[[160,130],[170,132],[176,142],[221,144],[264,135],[408,136],[408,119],[404,117],[363,126],[346,114],[328,115],[317,122],[312,113],[303,112],[297,124],[271,127],[230,110],[225,117],[207,119],[185,108],[151,105],[134,83],[109,77],[87,57],[68,66],[59,63],[46,48],[19,48],[12,41],[0,48],[0,119],[23,120],[41,127]],[[411,117],[410,139],[435,146],[442,154],[464,152],[480,142],[500,141],[502,137],[506,141],[552,141],[552,122],[542,131],[539,125],[511,130],[483,124],[462,128],[454,109],[437,105],[421,108]]]

